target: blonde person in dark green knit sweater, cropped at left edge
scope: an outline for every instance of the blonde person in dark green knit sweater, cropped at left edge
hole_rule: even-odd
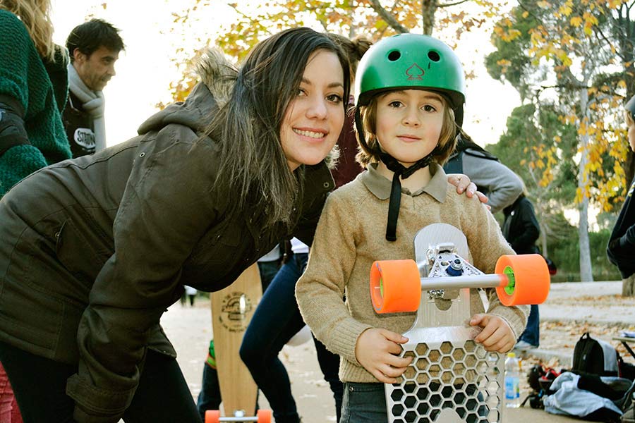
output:
[[[61,120],[66,57],[49,0],[0,0],[0,197],[29,173],[71,158]]]

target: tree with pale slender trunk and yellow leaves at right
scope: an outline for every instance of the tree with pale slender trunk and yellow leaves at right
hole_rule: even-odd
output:
[[[609,210],[619,200],[617,188],[625,185],[620,160],[627,157],[624,131],[617,114],[626,94],[626,82],[606,85],[605,75],[615,73],[613,34],[616,8],[623,0],[521,0],[509,18],[500,20],[492,35],[497,51],[488,56],[490,75],[507,80],[525,102],[540,109],[550,106],[563,124],[577,130],[576,204],[579,210],[580,273],[592,281],[588,238],[590,202]],[[543,151],[550,151],[543,148]],[[551,150],[552,151],[552,150]],[[542,158],[528,166],[547,166]]]

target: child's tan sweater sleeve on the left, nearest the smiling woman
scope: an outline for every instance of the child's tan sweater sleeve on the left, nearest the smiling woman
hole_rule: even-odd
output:
[[[358,364],[357,338],[370,325],[353,319],[344,304],[356,259],[355,216],[344,196],[330,195],[317,223],[306,271],[296,284],[300,312],[315,337],[333,353]],[[359,364],[358,364],[359,365]]]

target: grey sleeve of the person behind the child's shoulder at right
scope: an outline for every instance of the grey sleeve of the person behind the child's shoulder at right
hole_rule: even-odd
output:
[[[512,204],[523,192],[523,183],[500,161],[463,154],[463,172],[477,187],[488,190],[488,205],[492,213]]]

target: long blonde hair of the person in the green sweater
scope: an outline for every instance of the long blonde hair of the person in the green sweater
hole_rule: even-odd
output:
[[[53,24],[49,17],[51,0],[0,0],[0,8],[18,16],[40,56],[54,61],[59,47],[53,42]]]

